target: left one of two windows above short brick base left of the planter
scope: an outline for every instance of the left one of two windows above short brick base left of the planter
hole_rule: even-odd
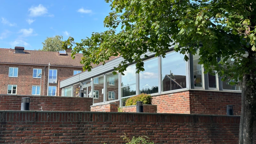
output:
[[[104,100],[104,76],[95,77],[93,78],[93,103],[103,102],[103,100]]]

